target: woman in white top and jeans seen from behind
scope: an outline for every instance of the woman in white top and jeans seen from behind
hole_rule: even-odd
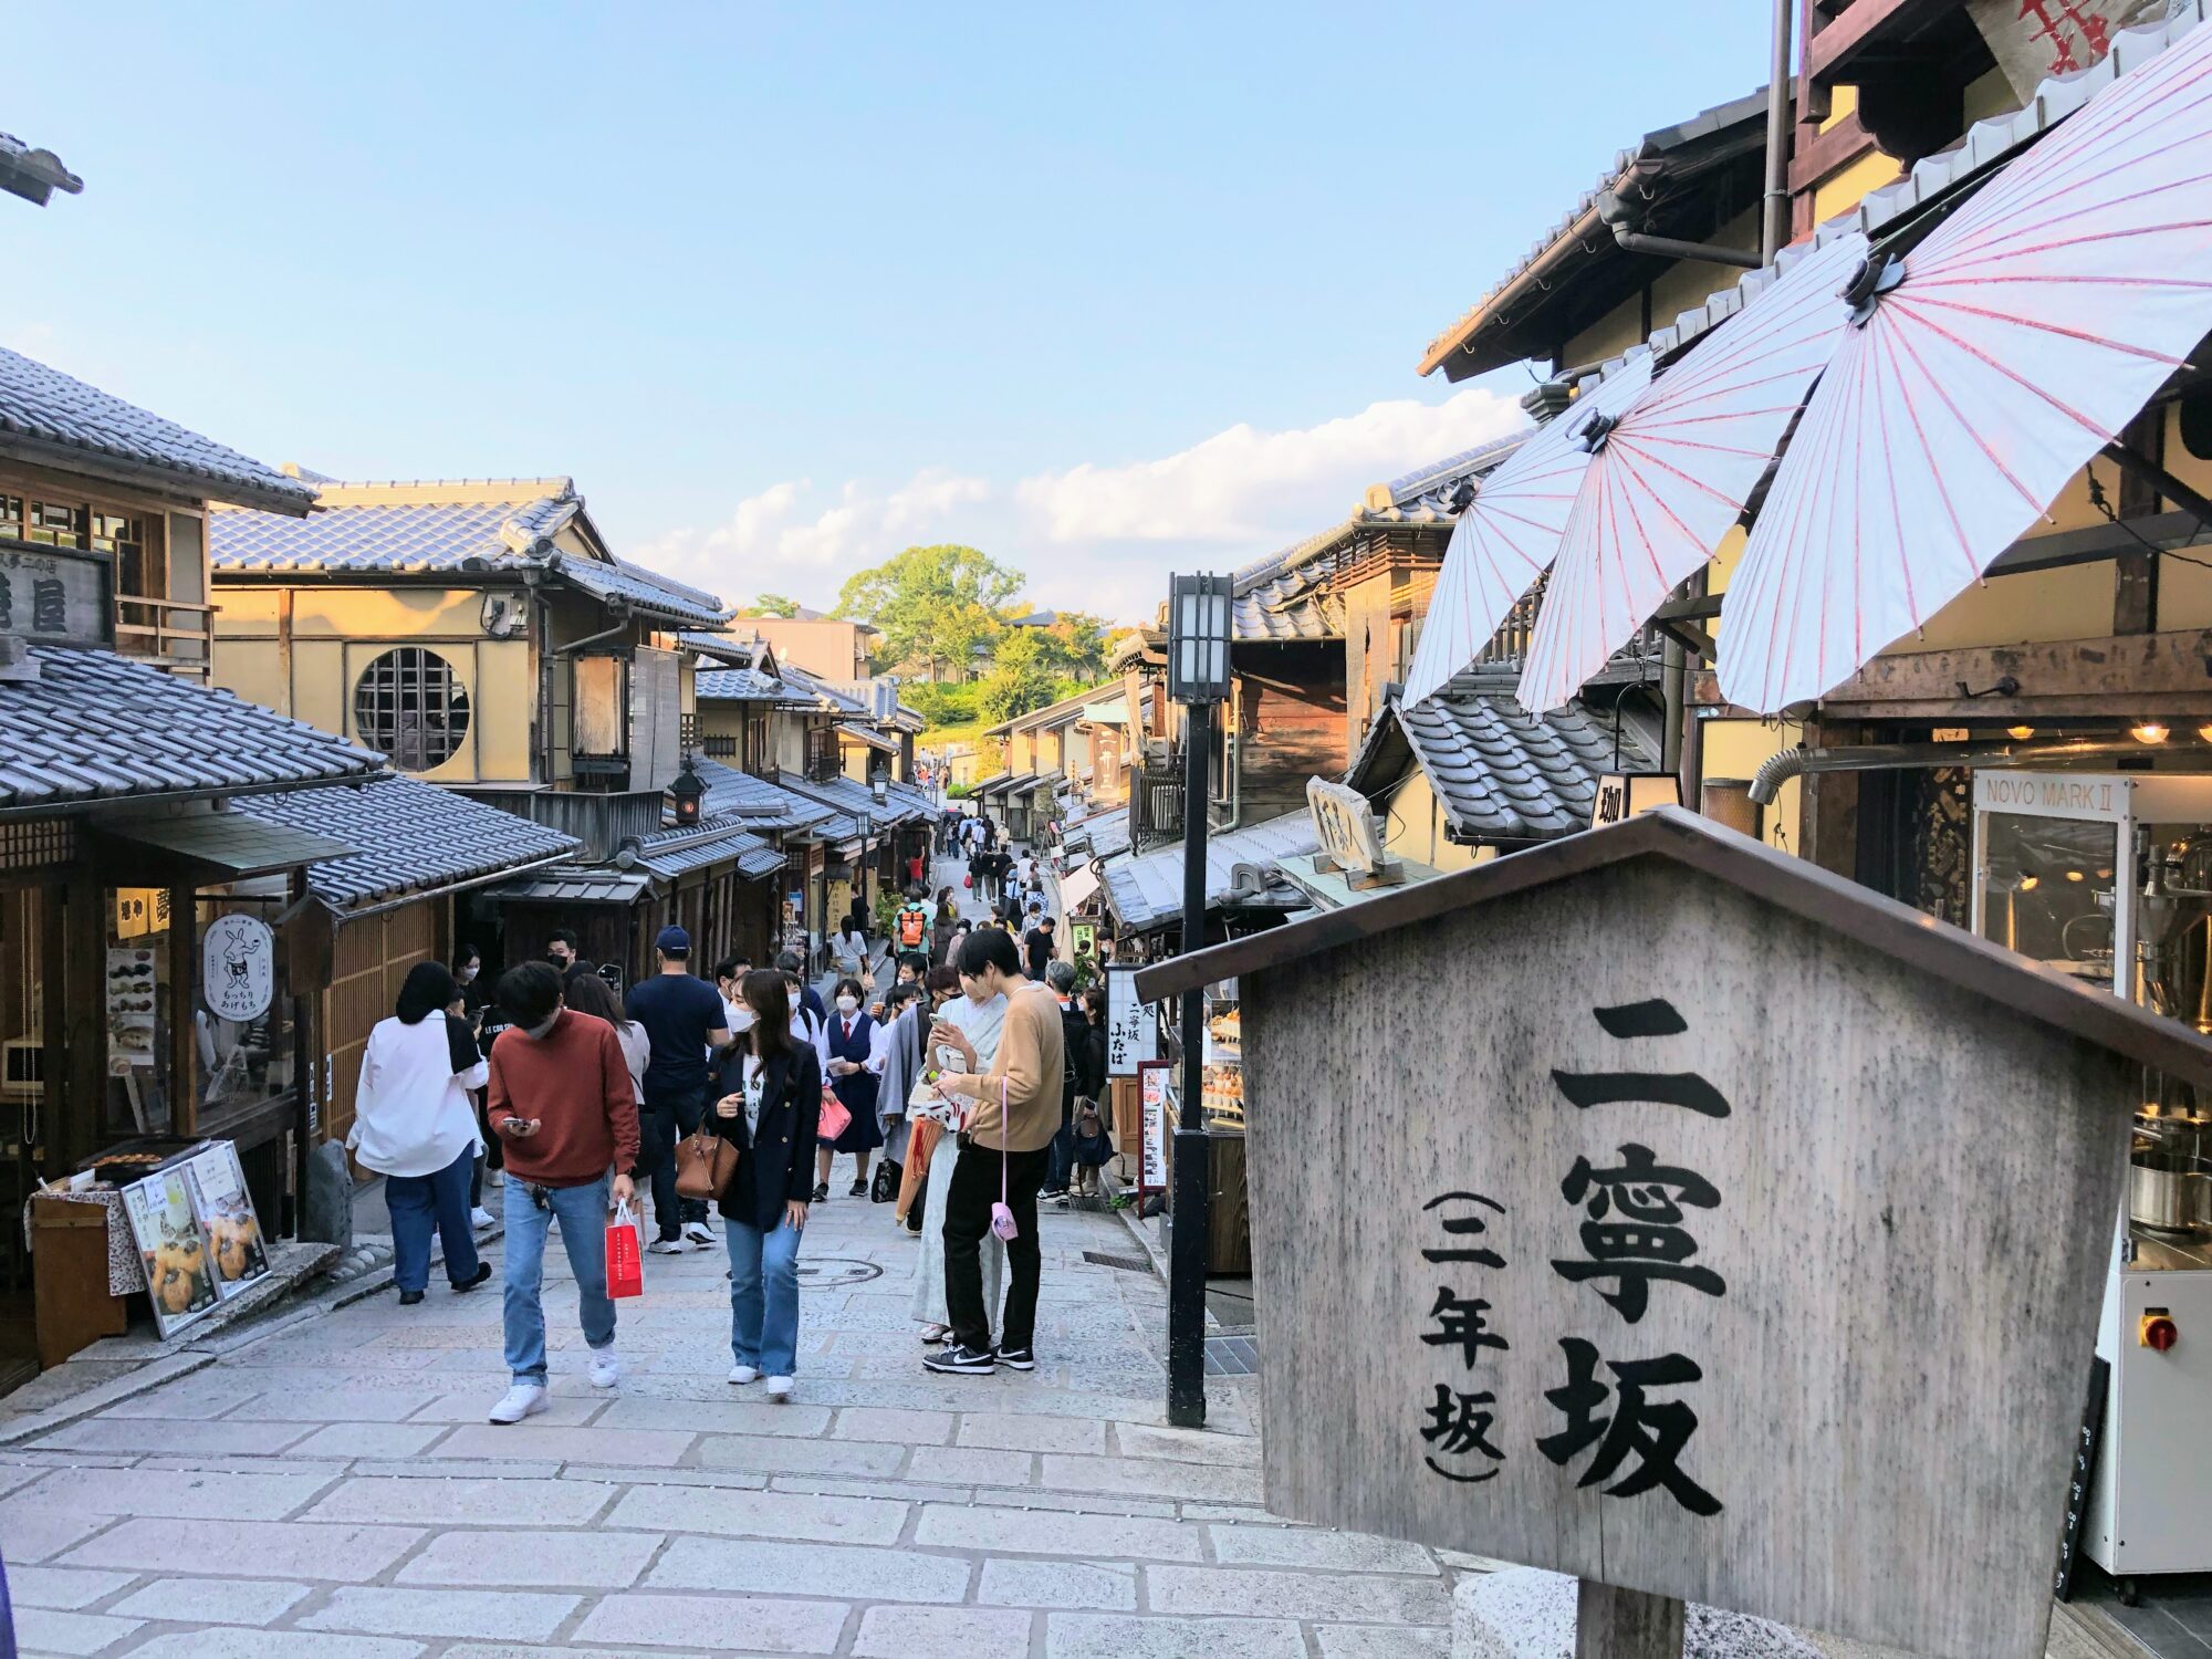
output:
[[[469,1172],[482,1141],[469,1091],[491,1079],[467,1020],[445,1009],[460,995],[440,962],[416,962],[400,987],[398,1011],[378,1020],[361,1055],[354,1130],[345,1146],[365,1170],[385,1177],[392,1210],[394,1276],[400,1303],[429,1287],[429,1237],[445,1241],[453,1290],[476,1290],[491,1263],[476,1256],[469,1228]]]

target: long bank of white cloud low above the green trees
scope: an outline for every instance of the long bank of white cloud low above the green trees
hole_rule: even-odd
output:
[[[1006,484],[942,467],[891,489],[849,478],[834,493],[792,478],[637,557],[728,599],[790,593],[827,606],[847,575],[902,546],[969,542],[1026,571],[1037,604],[1135,619],[1166,593],[1170,564],[1237,564],[1296,542],[1349,513],[1367,484],[1520,425],[1509,398],[1467,389],[1290,431],[1239,422],[1157,460],[1084,462]]]

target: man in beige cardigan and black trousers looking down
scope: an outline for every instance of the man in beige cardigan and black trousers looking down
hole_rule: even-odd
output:
[[[989,1000],[1006,993],[1006,1026],[991,1071],[982,1075],[975,1075],[975,1048],[956,1026],[940,1022],[929,1031],[931,1046],[942,1044],[967,1057],[967,1071],[938,1077],[938,1088],[980,1104],[969,1110],[960,1161],[945,1194],[945,1312],[953,1334],[922,1365],[947,1376],[989,1376],[1000,1365],[1035,1371],[1037,1279],[1044,1270],[1037,1188],[1060,1133],[1060,1004],[1051,989],[1022,975],[1022,951],[1004,929],[969,933],[958,969],[971,995]],[[1013,1210],[1015,1234],[1006,1241],[1011,1283],[993,1347],[991,1310],[982,1298],[982,1239],[1000,1190]]]

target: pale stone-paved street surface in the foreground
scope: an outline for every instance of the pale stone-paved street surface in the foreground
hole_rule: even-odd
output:
[[[843,1192],[841,1161],[838,1190]],[[1161,1422],[1164,1287],[1117,1217],[1044,1221],[1033,1376],[933,1378],[889,1206],[807,1225],[796,1400],[723,1380],[723,1259],[648,1256],[617,1394],[546,1256],[553,1409],[504,1387],[498,1287],[392,1294],[0,1451],[27,1652],[524,1659],[1438,1655],[1451,1573],[1263,1515],[1256,1383]],[[1292,1418],[1294,1431],[1294,1418]]]

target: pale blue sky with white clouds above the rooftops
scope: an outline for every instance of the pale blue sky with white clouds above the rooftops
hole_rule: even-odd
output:
[[[1046,604],[1509,429],[1422,343],[1765,7],[11,7],[0,341],[263,460],[573,473],[827,604],[969,540]]]

